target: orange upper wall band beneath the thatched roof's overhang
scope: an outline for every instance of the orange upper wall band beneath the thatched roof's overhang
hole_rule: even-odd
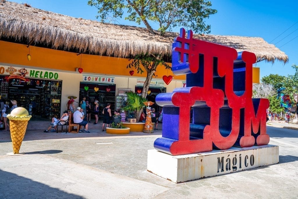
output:
[[[34,66],[49,69],[75,71],[76,68],[83,68],[84,73],[96,73],[103,75],[125,75],[130,76],[129,71],[134,70],[133,77],[146,77],[146,72],[138,74],[136,69],[127,69],[129,59],[115,58],[99,55],[87,55],[70,53],[61,50],[52,50],[48,48],[30,46],[31,61],[28,61],[27,54],[29,48],[24,44],[16,44],[6,41],[0,41],[0,62],[17,64],[24,66]],[[82,63],[81,62],[82,58]],[[165,67],[157,67],[155,73],[157,78],[163,75],[172,75],[174,79],[184,80],[185,75],[173,75],[171,70]]]

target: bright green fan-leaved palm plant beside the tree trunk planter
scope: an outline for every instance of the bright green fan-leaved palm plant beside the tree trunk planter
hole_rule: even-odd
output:
[[[126,106],[123,107],[125,111],[134,112],[136,115],[136,121],[139,121],[141,117],[141,113],[143,111],[144,102],[147,101],[146,98],[143,98],[142,96],[137,95],[135,92],[127,92],[127,101]]]

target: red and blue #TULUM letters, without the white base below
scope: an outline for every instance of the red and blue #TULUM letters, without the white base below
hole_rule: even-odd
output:
[[[163,123],[155,149],[183,155],[268,144],[269,101],[252,99],[255,62],[254,53],[194,39],[191,30],[185,38],[181,29],[173,43],[172,70],[186,74],[187,87],[156,96],[163,106]]]

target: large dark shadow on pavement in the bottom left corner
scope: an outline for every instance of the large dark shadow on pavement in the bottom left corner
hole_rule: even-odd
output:
[[[0,169],[0,198],[83,198]]]

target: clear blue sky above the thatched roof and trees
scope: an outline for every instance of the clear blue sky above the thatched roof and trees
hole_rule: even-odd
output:
[[[29,3],[32,7],[63,15],[97,20],[95,18],[97,9],[87,5],[88,0],[27,0],[14,2]],[[211,34],[213,35],[262,37],[270,43],[298,21],[297,0],[211,0],[211,2],[212,8],[218,10],[218,13],[206,19],[207,24],[211,25]],[[111,21],[111,23],[138,26],[124,19],[117,19],[117,21]],[[143,24],[140,26],[144,27]],[[154,25],[152,26],[153,29],[157,29]],[[179,32],[178,28],[173,31]],[[292,34],[289,35],[290,33]],[[289,36],[286,37],[287,35]],[[260,67],[260,77],[271,73],[279,75],[294,73],[291,65],[298,64],[297,36],[298,23],[271,42],[271,44],[275,44],[283,39],[276,44],[276,47],[280,47],[280,50],[289,56],[289,62],[285,65],[280,62],[275,62],[272,65],[264,61],[254,64],[254,66]]]

